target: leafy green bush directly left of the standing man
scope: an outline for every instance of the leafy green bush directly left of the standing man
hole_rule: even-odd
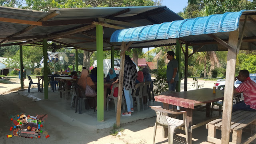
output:
[[[156,80],[154,81],[154,89],[155,95],[161,94],[162,92],[166,92],[168,90],[168,84],[166,82],[166,70],[167,66],[158,68],[156,73]]]

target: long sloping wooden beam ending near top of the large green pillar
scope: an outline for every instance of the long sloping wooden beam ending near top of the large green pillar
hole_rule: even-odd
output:
[[[30,43],[33,43],[33,42],[38,42],[38,41],[43,40],[43,39],[54,39],[54,38],[59,38],[59,37],[62,37],[62,36],[67,36],[67,35],[70,35],[70,34],[76,34],[78,32],[82,32],[84,30],[90,30],[92,28],[95,28],[95,25],[91,24],[91,25],[84,26],[84,27],[81,27],[81,28],[76,28],[74,30],[70,30],[70,31],[67,31],[67,32],[60,32],[60,33],[56,33],[56,34],[49,34],[49,36],[47,36],[45,38],[38,38],[36,40],[31,40],[31,41],[28,41],[28,42],[24,42],[22,45],[30,44]]]

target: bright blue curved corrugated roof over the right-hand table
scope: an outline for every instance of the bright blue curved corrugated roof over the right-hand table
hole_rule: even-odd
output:
[[[137,42],[144,40],[165,40],[180,38],[187,44],[199,41],[212,41],[207,34],[215,34],[218,38],[228,39],[229,32],[238,30],[244,23],[244,17],[247,14],[252,18],[256,10],[241,10],[240,12],[226,12],[224,14],[215,14],[207,17],[198,17],[193,19],[176,20],[173,22],[164,22],[136,28],[116,30],[110,42]],[[240,20],[240,19],[243,20]],[[242,29],[240,29],[241,31]],[[256,27],[253,21],[247,21],[244,37],[256,36]],[[176,42],[174,42],[176,43]],[[255,50],[255,44],[242,44],[242,47]],[[217,45],[205,45],[200,51],[218,50]]]

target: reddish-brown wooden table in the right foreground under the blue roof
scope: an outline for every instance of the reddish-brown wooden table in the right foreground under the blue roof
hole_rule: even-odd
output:
[[[164,108],[169,109],[169,104],[175,106],[181,106],[186,108],[187,112],[187,126],[188,126],[188,143],[192,144],[192,130],[194,128],[198,128],[212,121],[210,118],[210,104],[211,102],[216,102],[218,100],[223,100],[224,91],[216,90],[216,93],[212,93],[211,88],[202,88],[198,90],[189,90],[184,92],[177,93],[168,93],[165,92],[162,95],[154,97],[157,102],[163,102]],[[195,106],[206,104],[206,119],[204,122],[200,122],[198,124],[192,125],[192,116]],[[215,118],[214,118],[215,119]],[[163,137],[166,138],[168,136],[168,128],[164,128]]]

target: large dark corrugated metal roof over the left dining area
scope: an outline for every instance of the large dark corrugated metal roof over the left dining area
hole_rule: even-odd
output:
[[[88,19],[88,18],[108,18],[112,20],[119,20],[124,22],[129,22],[131,24],[136,24],[139,26],[157,24],[162,22],[170,22],[173,20],[183,20],[176,13],[172,12],[166,6],[141,6],[141,7],[111,7],[111,8],[50,8],[49,12],[40,12],[34,10],[24,10],[19,8],[9,8],[0,6],[0,17],[4,18],[14,18],[17,20],[30,20],[38,21],[52,12],[58,10],[60,14],[50,18],[47,21],[56,21],[66,20],[71,22],[72,20],[78,19]],[[126,11],[126,12],[123,12]],[[113,17],[114,15],[114,17]],[[90,24],[90,22],[88,23]],[[20,32],[27,28],[28,24],[16,24],[9,22],[0,22],[0,38],[7,38],[6,42],[19,42],[23,40],[36,40],[36,38],[43,38],[49,35],[58,35],[60,32],[66,32],[69,30],[74,30],[76,28],[86,26],[88,24],[68,24],[68,25],[58,25],[58,26],[36,26],[27,32],[19,34],[14,37],[10,37],[17,32]],[[122,25],[118,25],[122,26]],[[122,26],[127,27],[129,26]],[[110,50],[111,46],[115,48],[120,48],[120,43],[111,44],[110,36],[116,29],[104,27],[104,50]],[[95,28],[92,30],[86,31],[86,33],[96,36]],[[81,33],[71,34],[73,37],[81,38],[91,38]],[[9,38],[10,37],[10,38]],[[19,38],[20,37],[20,38]],[[26,38],[29,37],[29,38]],[[94,38],[91,38],[94,39]],[[51,40],[51,39],[50,39]],[[71,39],[71,38],[54,38],[55,41],[58,41],[62,44],[67,44],[69,46],[78,46],[79,48],[96,50],[96,41],[88,42],[86,40],[82,43],[81,39]],[[156,42],[162,44],[162,42]],[[71,44],[71,45],[70,45]],[[146,45],[144,45],[146,44]],[[145,42],[138,43],[132,47],[145,47],[154,46],[154,43]],[[165,43],[167,44],[167,43]],[[169,44],[169,43],[168,43]]]

